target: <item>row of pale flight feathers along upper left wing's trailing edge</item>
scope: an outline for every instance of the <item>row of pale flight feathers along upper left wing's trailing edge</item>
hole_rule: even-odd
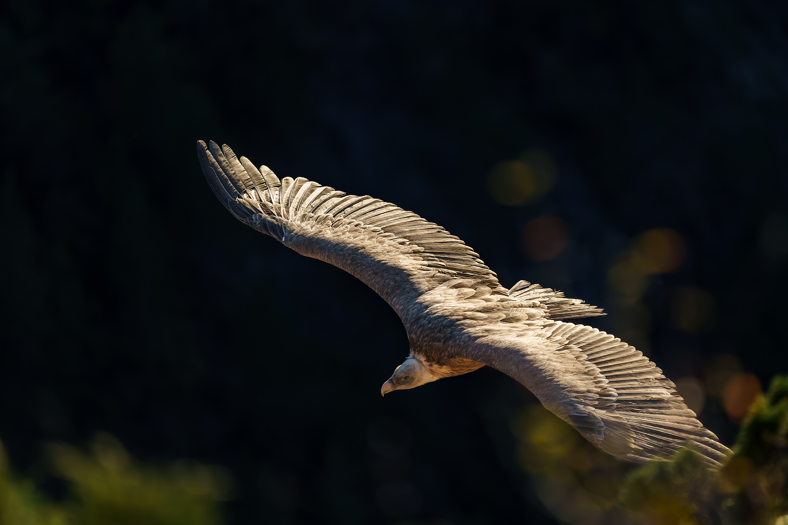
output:
[[[282,240],[289,221],[314,221],[335,227],[346,224],[344,220],[355,220],[371,234],[408,246],[411,257],[443,263],[428,264],[434,271],[446,273],[449,278],[464,276],[473,279],[476,287],[488,286],[493,293],[505,294],[495,272],[479,259],[478,253],[443,227],[415,213],[369,195],[348,195],[303,177],[279,179],[266,166],[255,168],[246,157],[239,159],[227,145],[199,141],[197,150],[217,198],[237,219],[258,231]]]

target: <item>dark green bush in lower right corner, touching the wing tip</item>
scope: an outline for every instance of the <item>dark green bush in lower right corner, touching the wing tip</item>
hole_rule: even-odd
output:
[[[772,525],[788,513],[788,375],[772,379],[742,422],[733,454],[708,471],[686,450],[632,471],[621,502],[643,523]]]

